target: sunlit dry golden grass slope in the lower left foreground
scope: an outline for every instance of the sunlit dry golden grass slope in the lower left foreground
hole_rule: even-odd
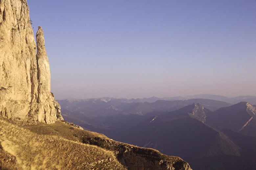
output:
[[[62,122],[58,123],[55,125],[56,128],[63,124]],[[2,169],[13,169],[15,166],[23,170],[125,169],[112,152],[94,145],[74,142],[79,139],[76,137],[77,134],[70,135],[70,133],[74,133],[72,128],[62,129],[62,132],[61,129],[54,129],[55,126],[49,126],[49,129],[42,128],[45,133],[34,133],[33,129],[39,131],[40,126],[27,127],[32,130],[30,131],[0,118],[0,142],[3,146],[0,156],[3,157],[8,152],[17,159],[17,166],[8,163],[7,159],[3,159]],[[75,131],[78,133],[79,129]],[[66,136],[66,139],[60,137],[63,135]],[[88,135],[94,136],[96,133],[92,132]]]

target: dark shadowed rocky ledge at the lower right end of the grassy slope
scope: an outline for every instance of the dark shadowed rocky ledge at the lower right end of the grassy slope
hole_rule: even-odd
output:
[[[82,139],[85,144],[93,144],[112,151],[119,162],[130,170],[192,170],[179,157],[167,156],[159,151],[137,147],[100,137]]]

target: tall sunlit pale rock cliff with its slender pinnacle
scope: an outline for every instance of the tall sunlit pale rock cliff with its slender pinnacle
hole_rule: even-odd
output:
[[[36,43],[27,1],[0,0],[0,115],[52,124],[59,113],[41,27]]]

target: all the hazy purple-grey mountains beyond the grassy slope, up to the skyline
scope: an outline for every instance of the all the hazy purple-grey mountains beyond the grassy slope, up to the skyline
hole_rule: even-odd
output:
[[[65,120],[117,141],[179,156],[192,169],[256,169],[256,105],[196,97],[220,96],[202,94],[179,100],[104,97],[58,102]],[[240,101],[252,100],[253,96],[220,98]],[[145,102],[131,102],[135,100]]]

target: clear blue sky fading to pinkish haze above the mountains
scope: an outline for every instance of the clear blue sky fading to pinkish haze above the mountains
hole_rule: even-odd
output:
[[[256,95],[255,0],[27,0],[56,99]]]

